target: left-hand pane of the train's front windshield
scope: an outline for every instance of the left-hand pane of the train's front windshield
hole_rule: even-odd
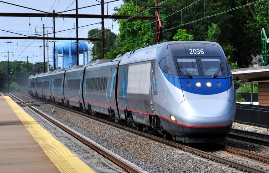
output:
[[[199,76],[195,57],[177,57],[177,65],[182,76]]]

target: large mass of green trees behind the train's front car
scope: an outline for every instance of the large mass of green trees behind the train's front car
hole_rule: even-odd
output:
[[[155,16],[154,9],[146,8],[137,14],[137,10],[144,5],[155,5],[153,0],[135,2],[123,0],[123,2],[119,8],[115,8],[118,15]],[[245,6],[246,1],[243,0],[165,1],[162,6],[171,6],[178,13],[171,8],[160,9],[164,28],[161,40],[171,41],[173,37],[180,40],[178,32],[180,28],[194,36],[195,40],[219,43],[226,56],[230,56],[230,63],[237,63],[238,68],[248,67],[253,55],[256,56],[261,52],[261,28],[269,28],[268,4],[268,1],[262,1]],[[226,12],[235,8],[237,9]],[[131,19],[116,21],[119,22],[120,30],[117,42],[122,52],[137,49],[144,43],[155,43],[154,21]]]

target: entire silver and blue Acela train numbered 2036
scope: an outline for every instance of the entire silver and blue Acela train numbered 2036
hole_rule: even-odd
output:
[[[221,46],[206,41],[163,42],[31,75],[28,93],[185,143],[225,141],[236,112],[231,67]]]

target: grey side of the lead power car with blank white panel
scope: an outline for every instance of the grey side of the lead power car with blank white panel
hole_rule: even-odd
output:
[[[150,114],[154,114],[154,71],[155,60],[119,66],[117,98],[121,119],[126,119],[129,111],[134,122],[150,126]]]

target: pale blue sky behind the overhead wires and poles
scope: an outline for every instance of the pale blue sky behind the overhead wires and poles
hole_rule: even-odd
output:
[[[104,0],[104,3],[112,0]],[[33,8],[44,12],[55,13],[62,12],[65,10],[75,9],[75,0],[3,0],[0,1],[0,13],[42,13],[36,10],[31,10],[23,7],[14,6],[7,3],[16,4],[23,7]],[[86,7],[99,4],[96,0],[78,0],[78,7]],[[116,1],[112,3],[104,4],[104,14],[112,15],[114,7],[119,7],[123,4],[122,1]],[[75,10],[65,12],[65,14],[75,14]],[[78,10],[79,14],[101,14],[101,5],[93,6],[89,8],[82,8]],[[85,26],[79,28],[79,38],[87,38],[88,31],[91,29],[101,29],[101,19],[93,18],[79,18],[78,26]],[[0,16],[0,36],[2,37],[22,37],[22,35],[36,36],[43,35],[43,24],[45,25],[45,33],[48,37],[53,37],[53,18],[37,18],[37,17],[1,17]],[[119,33],[119,25],[112,19],[104,19],[105,28],[110,29],[113,33]],[[86,26],[88,25],[88,26]],[[55,19],[55,31],[63,32],[56,33],[56,37],[71,37],[76,38],[76,19],[75,18],[56,18]],[[4,31],[3,31],[4,30]],[[8,31],[8,32],[7,32]],[[12,32],[12,33],[11,33]],[[47,37],[47,35],[45,35]],[[49,63],[52,63],[53,57],[53,40],[45,40],[45,59]],[[88,43],[88,48],[91,49],[91,44]],[[9,52],[9,53],[8,53]],[[7,61],[9,54],[9,61],[28,61],[31,63],[43,62],[43,40],[23,40],[23,39],[12,39],[12,40],[0,40],[0,61]],[[58,64],[61,64],[59,58]],[[83,64],[82,55],[79,56],[79,64]],[[61,66],[61,65],[58,65]]]

